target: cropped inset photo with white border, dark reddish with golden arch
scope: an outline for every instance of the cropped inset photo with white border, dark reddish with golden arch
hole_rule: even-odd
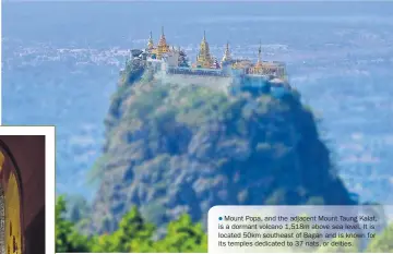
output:
[[[46,142],[50,134],[53,148],[55,128],[0,126],[0,253],[45,253]],[[51,160],[55,162],[55,152]]]

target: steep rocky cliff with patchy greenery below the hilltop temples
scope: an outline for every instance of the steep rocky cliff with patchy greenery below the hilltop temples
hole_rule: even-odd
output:
[[[124,75],[106,120],[91,230],[112,231],[133,205],[163,226],[183,213],[205,221],[215,205],[352,204],[294,93],[229,96]]]

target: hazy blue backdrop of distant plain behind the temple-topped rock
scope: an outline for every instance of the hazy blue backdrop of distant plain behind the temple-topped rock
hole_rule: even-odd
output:
[[[130,48],[160,26],[194,59],[206,31],[222,57],[286,61],[291,85],[323,119],[347,188],[393,202],[392,2],[8,2],[2,27],[2,122],[56,124],[57,190],[91,196],[104,118]],[[76,184],[76,185],[75,185]],[[71,188],[72,186],[72,188]]]

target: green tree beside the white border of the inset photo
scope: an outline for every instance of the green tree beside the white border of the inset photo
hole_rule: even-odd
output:
[[[56,201],[55,211],[56,252],[90,252],[90,242],[87,237],[79,234],[74,229],[74,225],[64,219],[66,213],[67,208],[64,197],[59,196]]]

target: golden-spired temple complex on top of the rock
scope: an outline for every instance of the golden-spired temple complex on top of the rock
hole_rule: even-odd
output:
[[[195,61],[191,62],[180,47],[175,48],[168,45],[164,27],[162,27],[158,43],[154,44],[151,33],[146,48],[138,50],[136,56],[133,55],[133,58],[142,60],[146,66],[154,66],[155,70],[163,70],[167,74],[287,80],[286,68],[283,62],[263,61],[261,44],[258,49],[257,62],[233,58],[229,43],[225,45],[223,51],[221,61],[212,56],[206,33],[204,32]]]

